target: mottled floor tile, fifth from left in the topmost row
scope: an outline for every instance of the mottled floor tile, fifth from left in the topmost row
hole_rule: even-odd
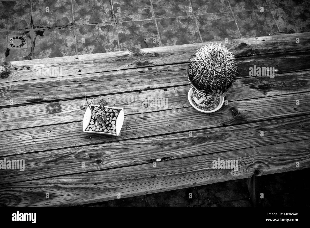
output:
[[[189,0],[153,0],[156,18],[193,15]]]

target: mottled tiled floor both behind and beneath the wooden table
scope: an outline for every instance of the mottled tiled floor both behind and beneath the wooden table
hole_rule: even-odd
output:
[[[310,0],[0,0],[0,61],[309,32],[309,9]],[[10,34],[25,35],[27,48],[7,49]],[[309,206],[304,181],[309,172],[264,176],[261,205]],[[243,179],[92,206],[251,206],[251,201]]]

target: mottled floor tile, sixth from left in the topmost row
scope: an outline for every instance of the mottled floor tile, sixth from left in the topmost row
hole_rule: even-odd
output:
[[[230,12],[228,0],[191,0],[194,14]]]

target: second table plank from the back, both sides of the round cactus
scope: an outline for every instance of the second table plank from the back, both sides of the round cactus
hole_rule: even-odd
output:
[[[238,59],[238,78],[249,77],[249,67],[274,67],[276,75],[286,72],[309,70],[310,52],[281,53]],[[0,83],[0,107],[33,102],[55,101],[93,95],[108,95],[160,87],[187,85],[188,64],[155,66],[83,74],[62,78],[45,78],[23,82]],[[267,75],[268,76],[268,75]],[[294,74],[292,74],[294,76]],[[257,76],[263,77],[263,76]],[[278,76],[274,76],[278,77]],[[270,83],[277,78],[270,78]]]

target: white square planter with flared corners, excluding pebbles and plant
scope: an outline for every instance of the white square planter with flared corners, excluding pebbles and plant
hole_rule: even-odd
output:
[[[92,107],[96,107],[98,105],[91,105]],[[116,126],[116,134],[113,133],[108,133],[108,132],[95,132],[95,131],[86,131],[86,128],[89,126],[89,123],[91,122],[91,109],[89,107],[87,107],[86,112],[84,114],[84,118],[83,118],[83,132],[87,132],[87,133],[95,133],[95,134],[104,134],[104,135],[113,135],[113,136],[118,136],[119,133],[121,132],[123,123],[124,123],[124,109],[123,108],[117,108],[117,107],[111,107],[111,106],[104,106],[104,108],[108,108],[108,109],[116,109],[116,110],[120,110],[120,112],[118,113],[118,116],[116,118],[115,121],[115,126]]]

